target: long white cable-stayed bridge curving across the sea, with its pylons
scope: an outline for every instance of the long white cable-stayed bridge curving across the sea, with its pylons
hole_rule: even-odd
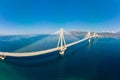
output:
[[[0,52],[0,59],[4,60],[5,57],[7,57],[7,56],[10,56],[10,57],[37,56],[37,55],[42,55],[42,54],[48,54],[48,53],[51,53],[51,52],[54,52],[54,51],[59,51],[60,55],[64,55],[64,52],[67,49],[67,47],[70,47],[70,46],[73,46],[75,44],[81,43],[81,42],[83,42],[85,40],[88,40],[88,42],[90,42],[91,38],[97,37],[96,34],[91,35],[90,32],[88,32],[88,34],[86,35],[85,38],[77,40],[77,41],[73,41],[73,42],[67,44],[65,36],[64,36],[64,33],[65,33],[65,31],[63,30],[63,28],[61,28],[59,30],[59,39],[58,39],[58,42],[57,42],[57,46],[54,47],[54,48],[40,50],[40,51],[35,51],[35,52],[22,52],[22,53],[18,53],[18,52],[15,52],[15,53]]]

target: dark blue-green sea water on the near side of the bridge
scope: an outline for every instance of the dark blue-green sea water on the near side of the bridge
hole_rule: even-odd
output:
[[[1,44],[1,51],[7,51]],[[63,57],[56,52],[40,58],[34,64],[34,59],[24,64],[0,61],[0,80],[120,80],[120,39],[85,41],[68,48]]]

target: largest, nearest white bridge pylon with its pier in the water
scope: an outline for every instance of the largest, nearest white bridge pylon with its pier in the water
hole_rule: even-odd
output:
[[[59,50],[59,54],[64,55],[64,52],[67,49],[67,47],[66,47],[66,42],[65,42],[65,38],[64,38],[64,30],[63,30],[63,28],[60,29],[57,48]]]

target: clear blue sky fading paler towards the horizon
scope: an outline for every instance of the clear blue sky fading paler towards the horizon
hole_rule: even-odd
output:
[[[119,0],[0,0],[0,34],[120,31]]]

